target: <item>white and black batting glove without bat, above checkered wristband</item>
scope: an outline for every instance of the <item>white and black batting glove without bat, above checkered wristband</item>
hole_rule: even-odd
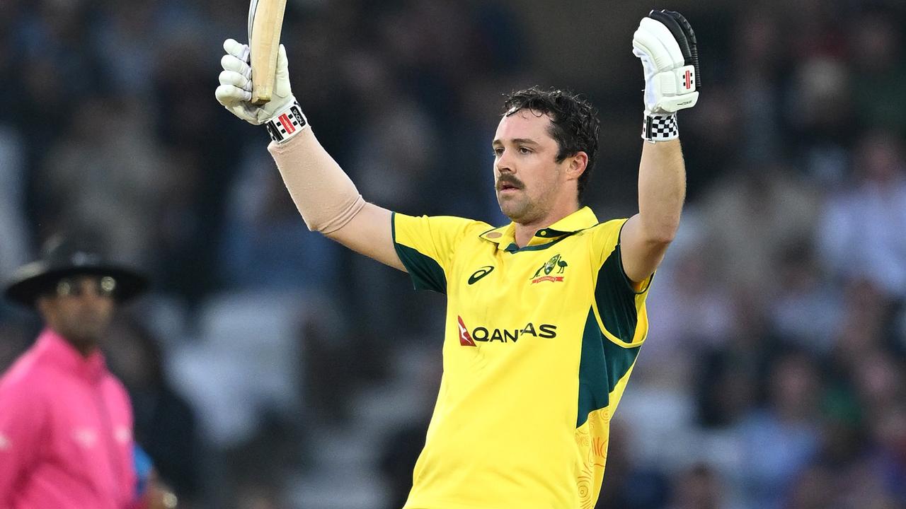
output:
[[[645,132],[650,141],[679,137],[679,110],[699,101],[699,50],[682,14],[651,11],[632,37],[632,54],[645,72]]]

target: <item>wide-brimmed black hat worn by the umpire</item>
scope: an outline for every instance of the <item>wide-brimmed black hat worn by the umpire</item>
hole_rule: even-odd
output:
[[[110,276],[118,303],[128,301],[148,288],[148,278],[138,271],[115,264],[102,255],[91,237],[54,236],[43,245],[41,259],[24,264],[6,284],[7,299],[34,308],[38,297],[51,291],[61,279],[73,275]]]

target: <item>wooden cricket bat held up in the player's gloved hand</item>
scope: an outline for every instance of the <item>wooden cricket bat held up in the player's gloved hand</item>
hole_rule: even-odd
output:
[[[277,51],[286,0],[251,0],[248,6],[248,46],[252,64],[252,104],[264,104],[274,93]]]

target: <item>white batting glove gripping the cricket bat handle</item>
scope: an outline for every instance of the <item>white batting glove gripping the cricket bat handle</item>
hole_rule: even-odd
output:
[[[252,125],[265,124],[271,139],[283,142],[308,125],[289,84],[289,64],[286,49],[280,44],[271,101],[255,106],[252,100],[252,68],[249,65],[247,44],[235,39],[224,41],[226,54],[220,59],[220,86],[214,95],[217,101],[242,120]]]

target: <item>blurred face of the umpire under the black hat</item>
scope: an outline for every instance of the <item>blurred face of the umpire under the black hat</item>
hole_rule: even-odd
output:
[[[82,352],[97,346],[110,325],[116,282],[109,277],[77,275],[60,280],[38,308],[47,324]]]

